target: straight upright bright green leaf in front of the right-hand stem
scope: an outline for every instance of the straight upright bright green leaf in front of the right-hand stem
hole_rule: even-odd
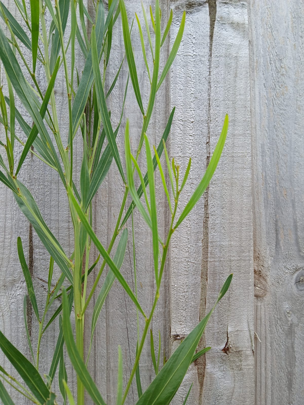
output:
[[[151,203],[151,223],[152,223],[152,242],[153,242],[153,259],[154,259],[154,272],[156,284],[158,283],[158,228],[157,228],[157,209],[156,209],[156,195],[155,195],[155,180],[154,168],[152,161],[152,153],[147,135],[145,137],[146,144],[146,157],[148,166],[148,179],[150,190],[150,203]],[[156,365],[156,364],[155,364]]]

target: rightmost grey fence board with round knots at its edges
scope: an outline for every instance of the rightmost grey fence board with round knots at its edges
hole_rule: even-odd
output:
[[[303,402],[302,2],[248,3],[256,403]]]

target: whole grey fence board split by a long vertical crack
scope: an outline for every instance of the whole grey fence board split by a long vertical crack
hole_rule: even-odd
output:
[[[227,275],[227,295],[206,328],[206,358],[188,372],[189,403],[253,404],[253,244],[248,20],[246,2],[174,2],[186,7],[186,36],[171,75],[177,113],[171,155],[185,168],[193,156],[186,203],[201,179],[227,112],[223,156],[205,195],[174,235],[171,249],[171,339],[180,340],[212,307]],[[174,27],[176,27],[174,25]],[[173,28],[171,38],[176,30]],[[176,100],[177,98],[177,100]],[[173,344],[172,349],[176,347]]]

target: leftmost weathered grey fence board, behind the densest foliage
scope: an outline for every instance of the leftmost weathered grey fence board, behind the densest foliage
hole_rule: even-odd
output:
[[[10,1],[4,2],[9,11],[15,16],[15,18],[21,23],[23,28],[27,30],[26,25],[19,15],[15,4]],[[2,21],[1,21],[2,23]],[[46,13],[46,25],[47,31],[51,19],[49,14]],[[71,30],[71,21],[68,20],[66,31]],[[65,35],[65,43],[67,43],[68,36]],[[29,66],[31,66],[31,56],[29,51],[25,47],[21,47],[24,51],[24,55],[28,60]],[[81,72],[84,60],[79,47],[76,47],[76,64],[78,71]],[[67,58],[69,57],[70,52],[68,52]],[[22,68],[23,65],[21,64]],[[24,72],[24,69],[23,69]],[[25,73],[26,78],[29,80],[28,74]],[[4,79],[4,78],[2,78]],[[47,88],[47,82],[45,79],[45,71],[43,66],[37,62],[36,68],[36,79],[41,87],[42,93],[44,94]],[[5,81],[5,79],[4,79]],[[29,80],[30,81],[30,80]],[[67,96],[66,96],[66,82],[64,77],[63,65],[58,71],[56,84],[54,87],[55,98],[56,98],[56,107],[59,127],[62,134],[63,144],[66,146],[67,142],[67,130],[69,126],[69,115],[67,113]],[[28,113],[22,107],[19,100],[17,100],[16,107],[21,112],[21,115],[24,117],[26,122],[32,126],[32,119],[29,117]],[[16,120],[16,134],[20,136],[21,139],[25,140],[26,137],[22,133],[21,128]],[[74,141],[74,173],[75,173],[75,183],[79,186],[79,173],[80,165],[82,159],[82,140],[81,134],[77,134]],[[80,138],[79,138],[80,137]],[[79,142],[80,141],[80,142]],[[55,141],[53,140],[54,144]],[[20,144],[15,141],[15,158],[18,162],[22,148]],[[77,177],[77,178],[76,178]],[[66,196],[66,191],[64,190],[61,180],[59,179],[58,174],[49,166],[46,166],[35,156],[32,156],[29,153],[29,156],[26,158],[21,171],[19,172],[18,178],[23,182],[30,192],[32,193],[36,203],[41,210],[41,214],[45,219],[45,222],[54,233],[58,241],[62,244],[67,255],[71,255],[74,249],[74,236],[73,236],[73,225],[71,220],[69,220],[69,203]],[[22,353],[24,353],[29,359],[31,359],[30,350],[28,348],[28,342],[26,339],[24,320],[23,320],[23,298],[27,293],[26,284],[24,281],[24,275],[21,271],[21,266],[19,263],[17,255],[17,236],[21,236],[21,239],[24,244],[24,251],[26,255],[26,260],[28,262],[30,271],[33,274],[33,285],[36,294],[37,304],[39,307],[40,316],[42,316],[43,308],[45,305],[45,299],[47,294],[47,277],[49,269],[49,254],[47,253],[45,247],[39,240],[36,232],[30,226],[28,220],[20,212],[19,207],[15,203],[15,200],[11,192],[7,191],[4,185],[1,183],[1,199],[3,198],[3,204],[6,204],[7,209],[1,212],[1,222],[5,224],[3,226],[4,235],[3,241],[5,245],[1,247],[2,255],[2,274],[1,277],[4,279],[4,284],[7,285],[9,290],[9,295],[7,295],[6,290],[3,290],[3,296],[0,296],[1,303],[1,318],[4,321],[3,325],[1,324],[1,330],[4,331],[4,334],[12,341]],[[7,197],[6,197],[7,196]],[[9,236],[9,237],[8,237]],[[9,253],[11,251],[11,253]],[[12,271],[13,269],[13,271]],[[55,286],[56,281],[58,280],[61,272],[58,269],[58,266],[54,266],[53,274],[53,287]],[[12,297],[10,298],[12,294]],[[49,313],[47,314],[46,322],[50,316],[54,313],[56,308],[59,305],[59,301],[55,302]],[[7,315],[7,307],[9,307],[9,315]],[[28,327],[31,332],[32,345],[34,354],[36,355],[36,343],[38,338],[39,325],[36,322],[36,317],[32,311],[31,305],[28,305]],[[73,317],[71,318],[72,324],[74,323]],[[55,320],[51,327],[43,335],[40,348],[40,359],[39,359],[39,371],[41,375],[49,373],[49,367],[54,355],[54,350],[58,338],[59,326],[58,320]],[[1,356],[3,356],[1,352]],[[6,359],[2,357],[0,364],[7,365],[7,370],[11,371],[13,375],[16,373],[11,370],[11,366]],[[76,396],[76,376],[73,373],[73,369],[69,360],[66,363],[69,387],[74,392]],[[52,388],[57,392],[60,398],[60,392],[58,388],[58,375],[56,374]],[[14,390],[10,390],[12,398],[15,400],[15,403],[20,403],[20,394],[16,394]],[[22,399],[23,401],[23,399]]]

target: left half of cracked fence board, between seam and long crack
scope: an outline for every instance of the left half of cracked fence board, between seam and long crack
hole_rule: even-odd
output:
[[[176,217],[188,202],[206,168],[206,133],[208,116],[208,4],[171,2],[173,22],[170,47],[186,9],[186,24],[180,49],[171,68],[171,108],[176,113],[170,136],[170,156],[181,166],[184,175],[189,157],[191,171],[182,194]],[[174,232],[170,247],[171,353],[197,325],[200,318],[201,239],[203,237],[203,198]],[[173,404],[183,402],[193,382],[189,403],[199,400],[197,368],[193,364]]]

